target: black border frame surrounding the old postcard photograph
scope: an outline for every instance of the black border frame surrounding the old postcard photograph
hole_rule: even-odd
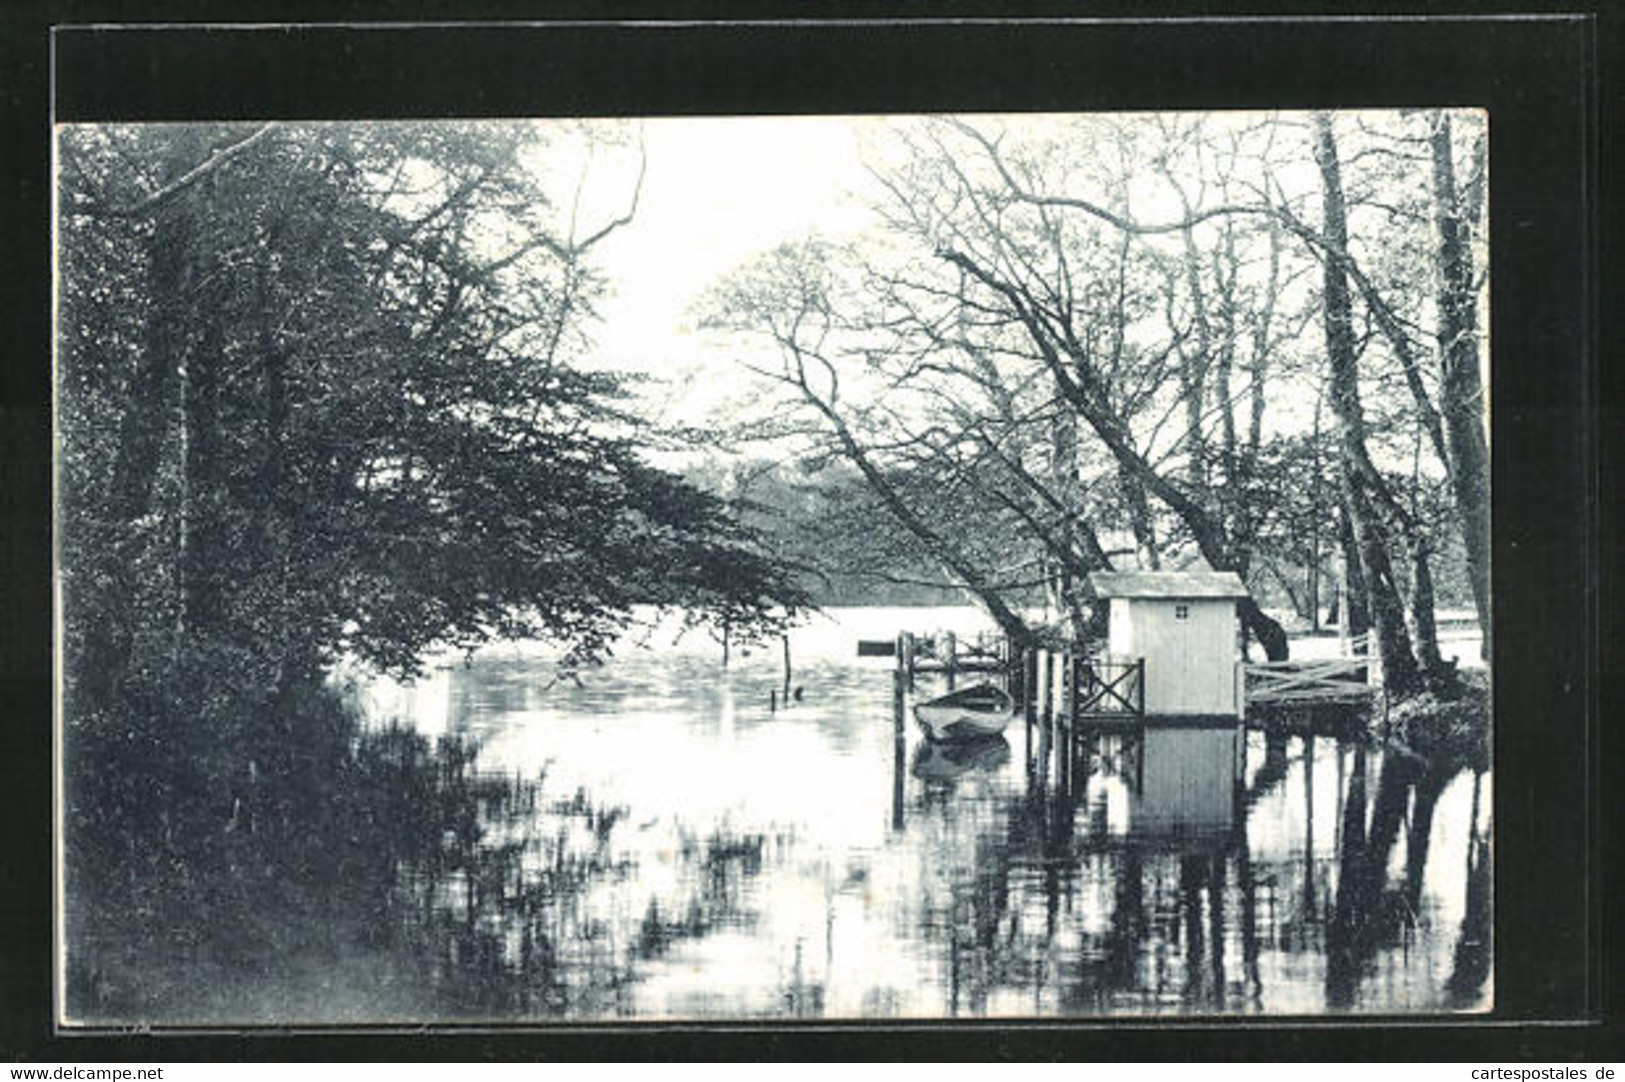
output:
[[[1607,440],[1618,431],[1615,400],[1597,400],[1596,153],[1612,151],[1599,143],[1597,94],[1612,89],[1602,81],[1599,44],[1617,54],[1612,21],[1581,8],[1121,21],[968,10],[894,19],[873,8],[848,8],[840,19],[715,21],[712,10],[692,11],[712,18],[671,21],[627,6],[622,19],[642,21],[611,23],[554,6],[551,21],[525,23],[515,16],[533,13],[504,6],[481,13],[499,24],[458,24],[436,21],[444,6],[411,0],[258,6],[236,5],[231,18],[328,24],[94,29],[130,19],[128,10],[114,0],[44,2],[3,36],[0,78],[15,83],[6,88],[3,159],[16,175],[6,179],[13,200],[0,232],[0,250],[10,253],[0,262],[0,312],[16,356],[0,369],[0,522],[15,598],[0,617],[0,689],[11,705],[0,728],[0,777],[21,814],[6,817],[0,838],[8,863],[24,871],[0,889],[5,1058],[1620,1058],[1618,1020],[1606,1022],[1620,970],[1604,965],[1617,939],[1602,911],[1618,897],[1610,887],[1620,872],[1601,863],[1607,832],[1615,830],[1615,845],[1618,838],[1602,798],[1618,741],[1599,712],[1607,655],[1597,637],[1607,614],[1599,580],[1612,575],[1601,556],[1618,544],[1617,512],[1597,499],[1612,492],[1599,487],[1597,468],[1617,461]],[[219,18],[205,3],[158,0],[143,11],[141,19]],[[332,24],[338,18],[356,21]],[[78,28],[52,34],[54,23]],[[1599,29],[1607,31],[1601,42]],[[1618,109],[1615,99],[1602,101]],[[1485,106],[1492,130],[1498,859],[1497,1007],[1488,1020],[54,1033],[52,106],[58,120],[167,120],[1433,104]]]

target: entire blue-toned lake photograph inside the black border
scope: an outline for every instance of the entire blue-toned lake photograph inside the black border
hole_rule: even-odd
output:
[[[58,123],[58,1025],[1490,1012],[1488,145]]]

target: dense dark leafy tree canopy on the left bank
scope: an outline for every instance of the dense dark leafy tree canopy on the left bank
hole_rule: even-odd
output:
[[[723,500],[644,461],[621,380],[578,364],[595,245],[637,190],[580,221],[549,154],[618,138],[62,130],[70,692],[205,648],[265,687],[496,637],[582,660],[637,604],[748,634],[801,603]]]

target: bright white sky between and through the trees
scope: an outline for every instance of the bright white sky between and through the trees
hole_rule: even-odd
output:
[[[1372,120],[1381,120],[1373,114]],[[1256,123],[1259,114],[1228,114],[1224,123]],[[609,236],[595,262],[611,283],[601,320],[593,328],[593,367],[640,372],[658,380],[640,395],[650,421],[705,426],[713,411],[752,395],[731,348],[699,331],[694,305],[723,275],[778,244],[821,232],[843,239],[871,221],[873,179],[864,158],[884,156],[886,130],[900,117],[682,117],[635,120],[627,136],[640,138],[647,172],[635,218]],[[998,128],[1045,136],[1068,119],[982,117]],[[1147,117],[1147,123],[1152,119]],[[1350,145],[1354,117],[1344,122]],[[1046,130],[1048,128],[1048,130]],[[1289,125],[1289,130],[1292,125]],[[864,153],[864,148],[869,153]],[[574,166],[570,166],[574,167]],[[592,206],[582,208],[582,232],[626,210],[635,179],[630,149],[595,164],[587,185]],[[1294,190],[1316,185],[1313,166],[1277,169]],[[1164,221],[1178,206],[1157,184],[1136,188],[1136,216]],[[1214,197],[1217,198],[1217,197]],[[1308,279],[1305,279],[1306,283]],[[1279,379],[1279,377],[1277,377]],[[1290,396],[1272,409],[1274,422],[1292,418],[1308,427],[1311,400]],[[1303,416],[1295,416],[1303,414]]]

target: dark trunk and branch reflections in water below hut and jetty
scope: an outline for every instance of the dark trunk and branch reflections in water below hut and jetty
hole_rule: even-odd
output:
[[[1302,765],[1303,803],[1295,794],[1292,811],[1303,817],[1305,838],[1289,859],[1261,861],[1246,816],[1224,837],[1113,833],[1100,820],[1098,786],[1118,777],[1133,786],[1139,770],[1121,747],[1094,751],[1081,759],[1094,772],[1082,772],[1071,791],[1034,785],[977,804],[973,827],[968,806],[941,809],[970,830],[959,850],[967,863],[946,871],[954,902],[936,910],[928,902],[920,933],[944,950],[957,1012],[1001,998],[1063,1014],[1259,1011],[1269,1006],[1269,972],[1259,963],[1266,950],[1324,954],[1326,1004],[1352,1007],[1373,962],[1410,934],[1422,910],[1433,809],[1453,765],[1433,767],[1398,749],[1373,759],[1373,749],[1339,741],[1332,830],[1315,817],[1313,741],[1305,741],[1302,759],[1287,754],[1287,741],[1269,741],[1264,765],[1237,801],[1251,807],[1250,798],[1279,790]],[[1315,848],[1328,830],[1337,838],[1334,864]],[[1471,1002],[1488,972],[1488,850],[1474,830],[1453,1002]],[[1401,837],[1404,877],[1391,882]]]

